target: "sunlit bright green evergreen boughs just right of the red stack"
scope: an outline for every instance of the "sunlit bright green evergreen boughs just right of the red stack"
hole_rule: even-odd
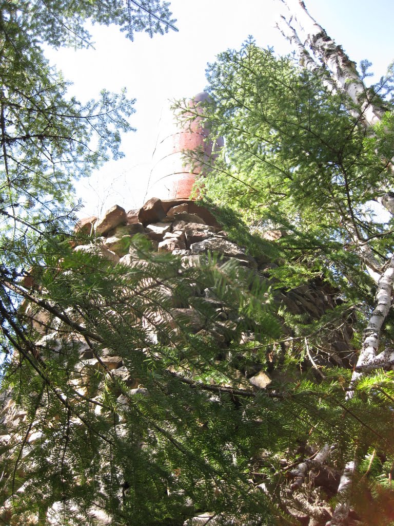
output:
[[[208,69],[204,110],[226,147],[202,191],[241,211],[255,232],[286,230],[281,245],[294,260],[323,258],[331,275],[352,284],[363,280],[357,258],[368,265],[360,246],[378,264],[393,248],[391,221],[370,220],[371,201],[392,185],[381,163],[394,151],[391,113],[369,133],[349,115],[346,96],[323,86],[324,75],[253,41],[219,55]]]

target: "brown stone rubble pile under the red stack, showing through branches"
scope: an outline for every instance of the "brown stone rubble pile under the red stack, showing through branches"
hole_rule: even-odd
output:
[[[99,254],[107,259],[111,265],[123,264],[133,267],[136,265],[136,262],[141,264],[141,261],[133,253],[132,246],[130,246],[133,236],[136,235],[149,239],[154,251],[158,253],[171,252],[173,255],[180,257],[181,265],[184,268],[198,265],[200,258],[205,257],[208,252],[216,252],[222,256],[221,261],[226,262],[234,259],[239,265],[250,268],[262,279],[271,280],[271,283],[273,283],[268,270],[280,264],[278,261],[270,261],[269,257],[265,255],[254,258],[246,254],[244,248],[229,240],[227,233],[217,222],[214,215],[192,200],[165,201],[152,198],[140,210],[130,210],[128,213],[123,208],[114,206],[102,218],[89,217],[81,220],[78,224],[78,229],[85,234],[85,244],[75,245],[74,250]],[[281,232],[278,231],[268,232],[267,239],[270,242],[275,242],[281,235]],[[81,236],[81,239],[83,238]],[[319,320],[330,309],[336,307],[335,296],[336,291],[327,282],[314,280],[307,285],[290,291],[278,289],[275,293],[275,301],[278,308],[282,308],[291,315],[302,315],[305,319]],[[219,347],[225,350],[227,345],[230,344],[230,341],[226,339],[228,331],[226,332],[225,327],[226,324],[236,323],[236,316],[233,315],[234,313],[229,312],[229,309],[211,294],[210,289],[204,290],[204,298],[202,299],[206,302],[207,308],[209,305],[217,313],[214,324],[207,321],[208,318],[204,320],[201,317],[201,313],[193,309],[192,305],[187,307],[185,305],[182,307],[174,306],[172,316],[174,319],[179,316],[188,320],[188,327],[193,333],[215,339]],[[187,304],[187,299],[185,304]],[[57,340],[56,332],[48,333],[48,313],[44,310],[33,311],[30,313],[30,319],[34,328],[41,335],[36,345],[42,346],[42,348],[47,347],[57,352],[59,346],[61,347],[61,342]],[[148,329],[149,323],[151,323],[152,338],[154,338],[154,322],[142,319],[141,323],[145,324],[145,327]],[[295,335],[284,322],[282,325],[284,337],[278,345],[282,349],[282,356],[284,357],[287,348],[295,340]],[[351,349],[351,337],[351,326],[344,322],[341,332],[333,330],[324,343],[324,349],[320,349],[320,351],[323,350],[329,356],[329,361],[342,365],[342,357],[349,355],[349,349]],[[252,333],[245,333],[239,343],[246,343],[253,339]],[[81,374],[86,371],[86,378],[91,375],[92,371],[100,370],[100,368],[104,367],[111,371],[111,375],[126,384],[130,395],[148,394],[147,389],[141,385],[140,380],[131,375],[122,358],[116,356],[116,352],[113,350],[101,350],[100,363],[94,352],[87,345],[87,342],[77,334],[70,335],[70,343],[78,350],[80,371]],[[142,353],[143,350],[137,349],[134,352]],[[311,350],[311,352],[313,351]],[[273,359],[269,357],[266,365],[256,363],[256,367],[251,366],[249,370],[240,371],[240,387],[264,389],[273,379],[281,377],[281,368],[279,367],[281,365],[280,354],[278,353],[279,358],[277,356],[274,356]],[[268,350],[267,356],[269,356]],[[318,356],[315,356],[314,360],[318,366]],[[88,383],[86,379],[85,382]],[[122,395],[120,395],[118,401],[120,401],[120,398],[122,398]],[[17,429],[25,417],[26,413],[15,406],[11,397],[4,400],[3,422],[6,423],[9,429]],[[9,436],[3,436],[0,438],[0,442],[7,442],[9,438]],[[39,433],[32,434],[27,441],[32,444],[37,439],[39,439]],[[9,509],[11,510],[11,508]],[[94,511],[99,513],[100,510]],[[7,513],[9,513],[8,508],[6,515]],[[104,513],[101,513],[100,517],[97,515],[97,518],[101,524],[110,521]],[[205,513],[186,521],[186,523],[187,526],[197,526],[198,524],[205,524],[207,520],[212,522],[212,524],[216,522],[212,514]]]

